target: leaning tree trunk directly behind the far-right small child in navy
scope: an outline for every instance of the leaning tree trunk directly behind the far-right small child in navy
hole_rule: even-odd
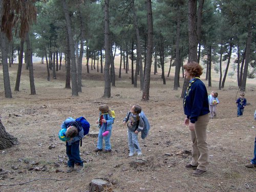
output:
[[[246,79],[247,79],[247,73],[248,73],[248,66],[249,66],[249,61],[250,61],[250,47],[251,47],[251,39],[252,39],[252,26],[251,23],[248,25],[248,37],[247,37],[247,42],[246,42],[246,53],[245,53],[245,64],[244,64],[244,74],[243,74],[243,79],[241,83],[240,90],[245,91],[246,88]]]

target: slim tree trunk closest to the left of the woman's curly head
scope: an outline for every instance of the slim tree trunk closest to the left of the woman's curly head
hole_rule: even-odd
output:
[[[180,17],[177,16],[177,32],[176,32],[176,59],[175,59],[175,75],[174,75],[174,90],[180,87]]]

